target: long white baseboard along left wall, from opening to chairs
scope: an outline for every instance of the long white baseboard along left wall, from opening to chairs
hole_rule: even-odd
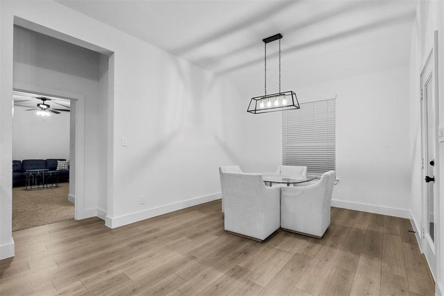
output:
[[[212,200],[216,200],[216,199],[220,199],[220,198],[221,198],[221,193],[218,192],[218,193],[204,195],[204,196],[200,196],[200,197],[196,197],[196,198],[192,198],[192,199],[188,199],[188,200],[184,200],[184,201],[179,201],[176,203],[171,203],[171,204],[157,207],[157,208],[152,208],[152,209],[148,209],[148,210],[144,210],[144,211],[140,211],[140,212],[136,212],[136,213],[132,213],[132,214],[128,214],[128,215],[123,215],[120,217],[111,218],[111,217],[106,216],[105,217],[105,225],[108,226],[109,228],[116,228],[119,226],[123,226],[123,225],[134,223],[137,221],[145,220],[148,218],[163,215],[163,214],[170,213],[173,211],[185,209],[188,207],[192,207],[195,205],[199,205],[199,204],[209,202]]]

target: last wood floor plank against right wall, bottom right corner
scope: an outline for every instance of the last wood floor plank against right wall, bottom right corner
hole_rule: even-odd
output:
[[[426,259],[419,251],[418,246],[403,243],[403,248],[410,291],[423,296],[435,295],[435,282],[430,275]]]

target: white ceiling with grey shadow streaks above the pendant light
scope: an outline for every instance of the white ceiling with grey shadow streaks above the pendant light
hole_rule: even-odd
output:
[[[407,66],[416,7],[414,0],[59,2],[222,74],[241,91],[258,88],[259,92],[264,67],[262,39],[276,33],[283,35],[285,89]],[[276,43],[267,48],[270,75],[277,68],[273,68]]]

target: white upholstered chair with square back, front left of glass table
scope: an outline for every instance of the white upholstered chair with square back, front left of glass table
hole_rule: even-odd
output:
[[[265,186],[259,174],[221,174],[227,232],[263,241],[279,228],[279,187]]]

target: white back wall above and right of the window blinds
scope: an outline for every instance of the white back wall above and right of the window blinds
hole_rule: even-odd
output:
[[[408,82],[402,67],[298,87],[301,103],[337,95],[334,204],[410,217]]]

